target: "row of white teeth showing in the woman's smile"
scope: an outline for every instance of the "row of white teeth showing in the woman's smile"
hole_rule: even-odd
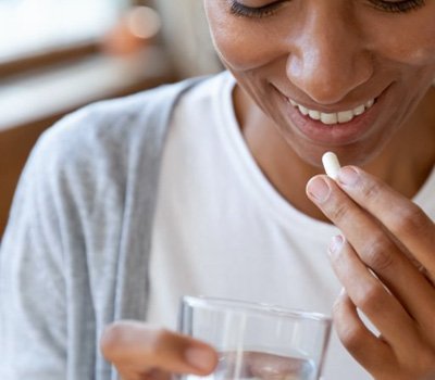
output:
[[[364,104],[360,104],[352,110],[334,112],[334,113],[324,113],[316,110],[309,110],[306,106],[296,103],[294,100],[287,98],[288,103],[290,103],[295,109],[299,111],[303,116],[308,116],[313,121],[318,121],[323,123],[324,125],[332,126],[334,124],[344,124],[349,123],[355,117],[361,116],[365,113],[365,111],[370,110],[373,104],[376,102],[376,99],[371,99],[366,101]]]

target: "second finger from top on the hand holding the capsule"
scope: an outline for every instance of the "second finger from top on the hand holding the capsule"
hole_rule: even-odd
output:
[[[361,261],[373,269],[409,314],[432,330],[434,288],[399,251],[380,223],[326,176],[310,180],[308,195],[343,231]]]

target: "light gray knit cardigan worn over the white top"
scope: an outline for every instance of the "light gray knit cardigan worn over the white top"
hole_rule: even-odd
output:
[[[161,151],[196,80],[87,106],[38,141],[0,248],[0,379],[117,378],[98,341],[144,319]]]

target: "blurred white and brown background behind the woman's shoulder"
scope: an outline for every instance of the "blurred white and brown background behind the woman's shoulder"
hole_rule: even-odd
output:
[[[0,240],[28,153],[55,121],[221,69],[202,0],[0,0]]]

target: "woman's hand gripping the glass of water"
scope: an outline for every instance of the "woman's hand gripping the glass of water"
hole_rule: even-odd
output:
[[[217,354],[210,345],[130,320],[109,325],[100,347],[123,380],[163,380],[173,373],[207,376],[217,364]]]

